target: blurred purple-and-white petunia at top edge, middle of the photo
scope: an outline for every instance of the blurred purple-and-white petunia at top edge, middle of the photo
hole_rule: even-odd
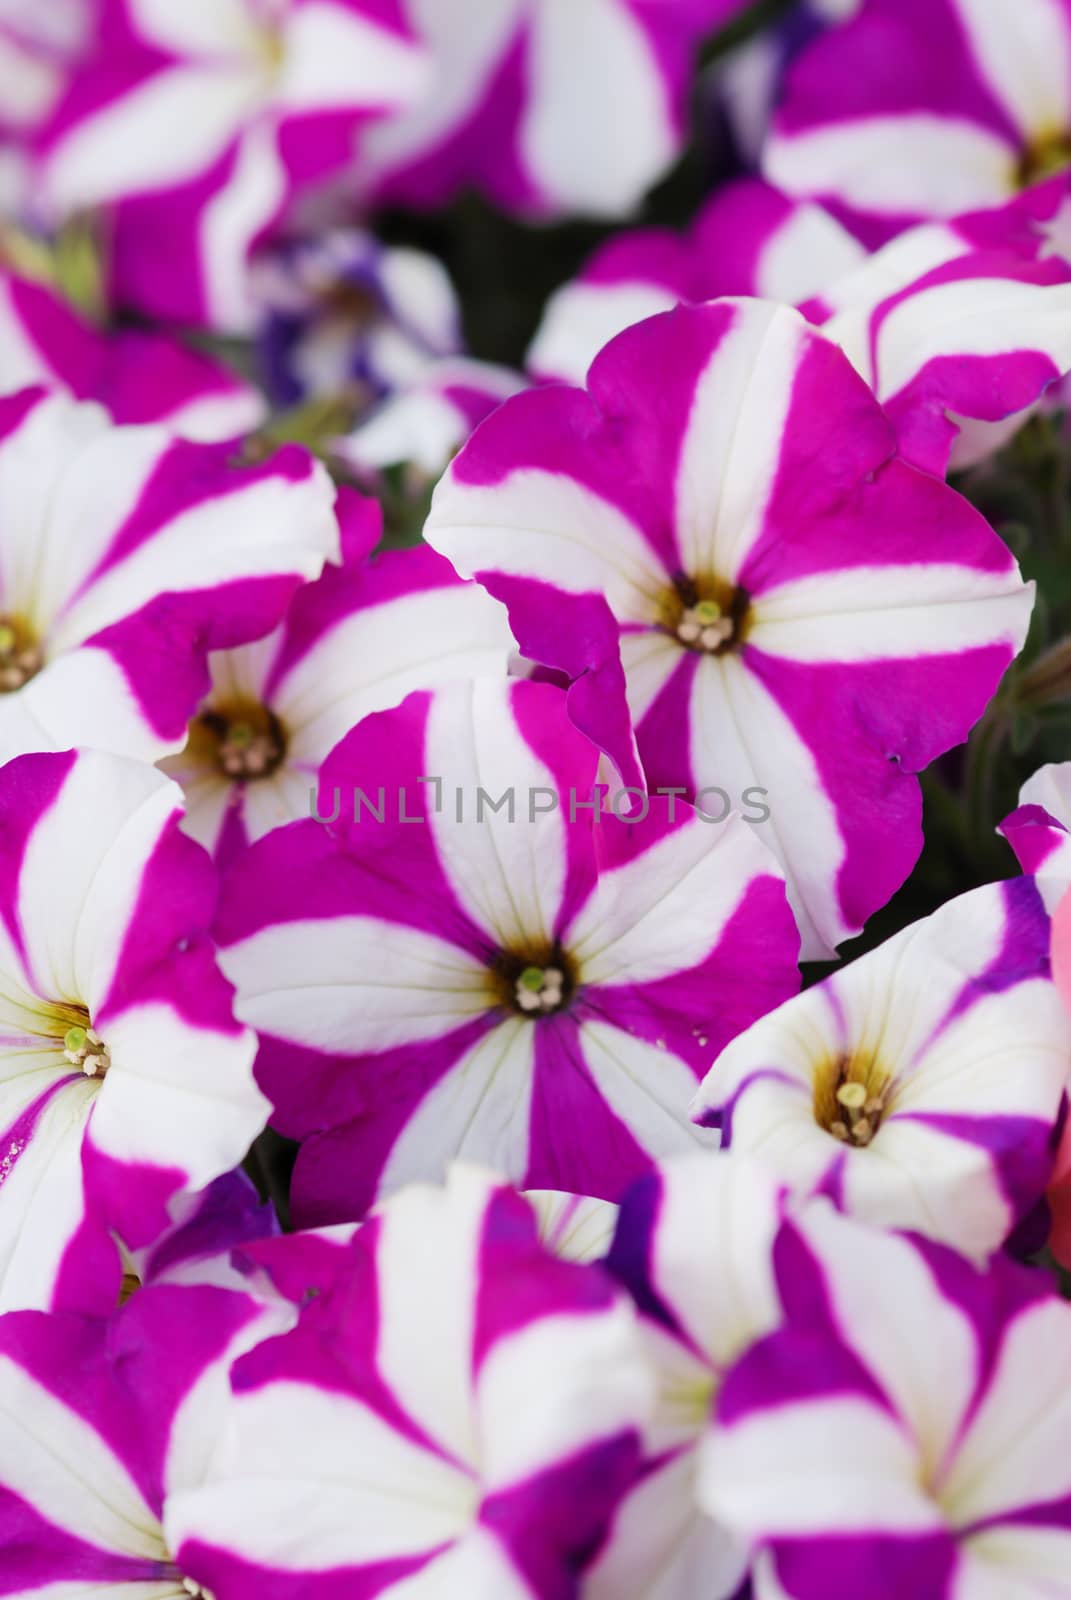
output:
[[[674,162],[695,50],[741,0],[407,0],[431,90],[370,128],[359,184],[440,206],[477,186],[525,216],[628,216]]]

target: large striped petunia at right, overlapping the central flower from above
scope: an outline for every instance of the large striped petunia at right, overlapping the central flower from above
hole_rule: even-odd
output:
[[[762,301],[653,317],[588,392],[506,402],[426,534],[573,682],[628,782],[626,699],[652,789],[714,814],[765,790],[805,957],[914,866],[916,774],[967,736],[1031,610],[981,517],[898,459],[842,352]]]

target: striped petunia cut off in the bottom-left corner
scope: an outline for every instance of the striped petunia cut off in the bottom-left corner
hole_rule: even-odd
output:
[[[295,1322],[218,1288],[147,1288],[110,1320],[0,1317],[0,1594],[208,1600],[163,1533],[226,1430],[231,1365]]]

